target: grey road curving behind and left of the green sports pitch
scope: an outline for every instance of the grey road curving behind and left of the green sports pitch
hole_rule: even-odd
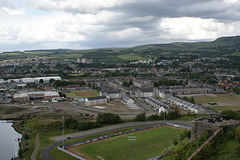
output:
[[[161,123],[161,122],[163,122],[163,121],[129,122],[129,123],[115,124],[115,125],[110,125],[110,126],[106,126],[106,127],[91,129],[91,130],[87,130],[87,131],[81,131],[81,132],[67,134],[67,135],[64,136],[64,139],[66,140],[67,137],[71,137],[71,139],[68,139],[68,140],[78,139],[78,138],[81,138],[81,137],[92,136],[92,135],[96,135],[96,134],[100,134],[100,133],[104,133],[104,132],[109,132],[109,131],[113,131],[113,130],[118,130],[118,129],[122,129],[122,128],[128,128],[128,127],[139,126],[139,125],[151,125],[151,124],[156,124],[156,123]],[[175,124],[180,124],[180,125],[191,126],[191,121],[172,120],[172,121],[168,121],[168,122],[175,123]],[[44,149],[41,152],[41,157],[44,160],[53,160],[49,156],[49,152],[55,146],[62,143],[62,136],[51,137],[50,139],[54,140],[55,143],[48,146],[46,149]]]

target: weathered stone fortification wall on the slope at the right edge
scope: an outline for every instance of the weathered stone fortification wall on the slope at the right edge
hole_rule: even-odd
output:
[[[236,127],[240,125],[238,120],[226,120],[223,117],[209,117],[209,118],[198,118],[192,121],[191,141],[203,135],[206,129],[210,129],[212,133],[223,126]]]

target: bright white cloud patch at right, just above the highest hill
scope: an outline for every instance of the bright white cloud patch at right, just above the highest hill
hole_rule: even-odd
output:
[[[161,38],[197,41],[240,34],[237,29],[239,24],[239,22],[223,23],[214,19],[192,17],[163,18],[159,23],[159,29],[166,30]]]

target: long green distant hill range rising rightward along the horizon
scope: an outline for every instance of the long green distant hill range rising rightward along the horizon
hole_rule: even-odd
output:
[[[212,42],[175,42],[169,44],[148,44],[131,48],[100,48],[90,50],[28,50],[24,52],[4,52],[0,60],[27,59],[46,56],[48,59],[92,58],[99,62],[127,62],[158,58],[161,56],[240,56],[240,36],[221,37]]]

